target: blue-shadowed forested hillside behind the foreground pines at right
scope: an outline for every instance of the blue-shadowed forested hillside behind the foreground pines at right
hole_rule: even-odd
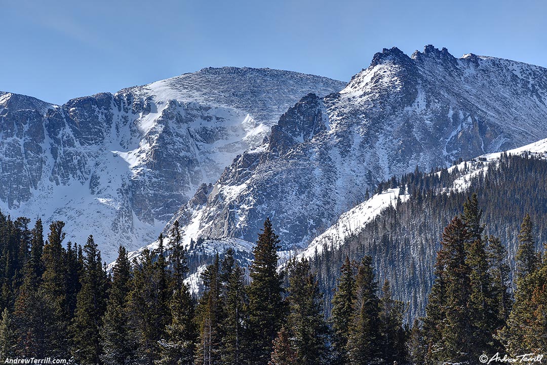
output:
[[[539,249],[547,240],[547,161],[532,154],[502,154],[499,160],[473,160],[469,164],[474,165],[473,170],[477,166],[485,169],[463,181],[462,176],[471,166],[461,163],[450,172],[441,169],[433,174],[416,170],[380,184],[379,192],[389,187],[405,187],[410,198],[382,211],[361,232],[348,237],[340,248],[324,249],[312,258],[312,267],[317,270],[327,299],[332,296],[346,255],[356,259],[370,255],[380,280],[389,279],[395,297],[409,302],[406,319],[422,315],[424,299],[435,277],[433,264],[441,233],[462,212],[471,192],[478,196],[484,212],[487,222],[484,233],[501,239],[512,272],[520,223],[527,213],[535,223],[533,235]],[[452,189],[456,180],[464,189]],[[325,303],[329,308],[329,301]]]

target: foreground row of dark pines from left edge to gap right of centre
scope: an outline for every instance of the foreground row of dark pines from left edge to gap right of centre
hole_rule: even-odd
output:
[[[158,248],[132,262],[125,248],[111,273],[92,236],[63,245],[64,223],[0,216],[0,356],[66,358],[76,364],[345,364],[405,361],[404,305],[389,283],[377,293],[371,258],[347,261],[325,319],[307,260],[278,272],[280,241],[270,220],[254,261],[217,254],[191,294],[187,251],[176,222]],[[250,278],[250,282],[247,282]],[[287,279],[287,280],[286,280]],[[284,285],[288,282],[288,285]]]

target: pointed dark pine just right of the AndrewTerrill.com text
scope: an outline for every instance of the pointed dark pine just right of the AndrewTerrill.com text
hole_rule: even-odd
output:
[[[93,236],[84,246],[82,289],[78,292],[72,320],[72,354],[79,364],[98,364],[102,352],[99,329],[106,309],[106,282],[101,254]]]

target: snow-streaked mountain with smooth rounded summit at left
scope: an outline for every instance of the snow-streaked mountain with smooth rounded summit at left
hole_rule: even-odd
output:
[[[206,68],[52,105],[0,93],[0,210],[93,234],[103,258],[154,240],[203,183],[263,143],[290,105],[346,84],[272,69]]]

